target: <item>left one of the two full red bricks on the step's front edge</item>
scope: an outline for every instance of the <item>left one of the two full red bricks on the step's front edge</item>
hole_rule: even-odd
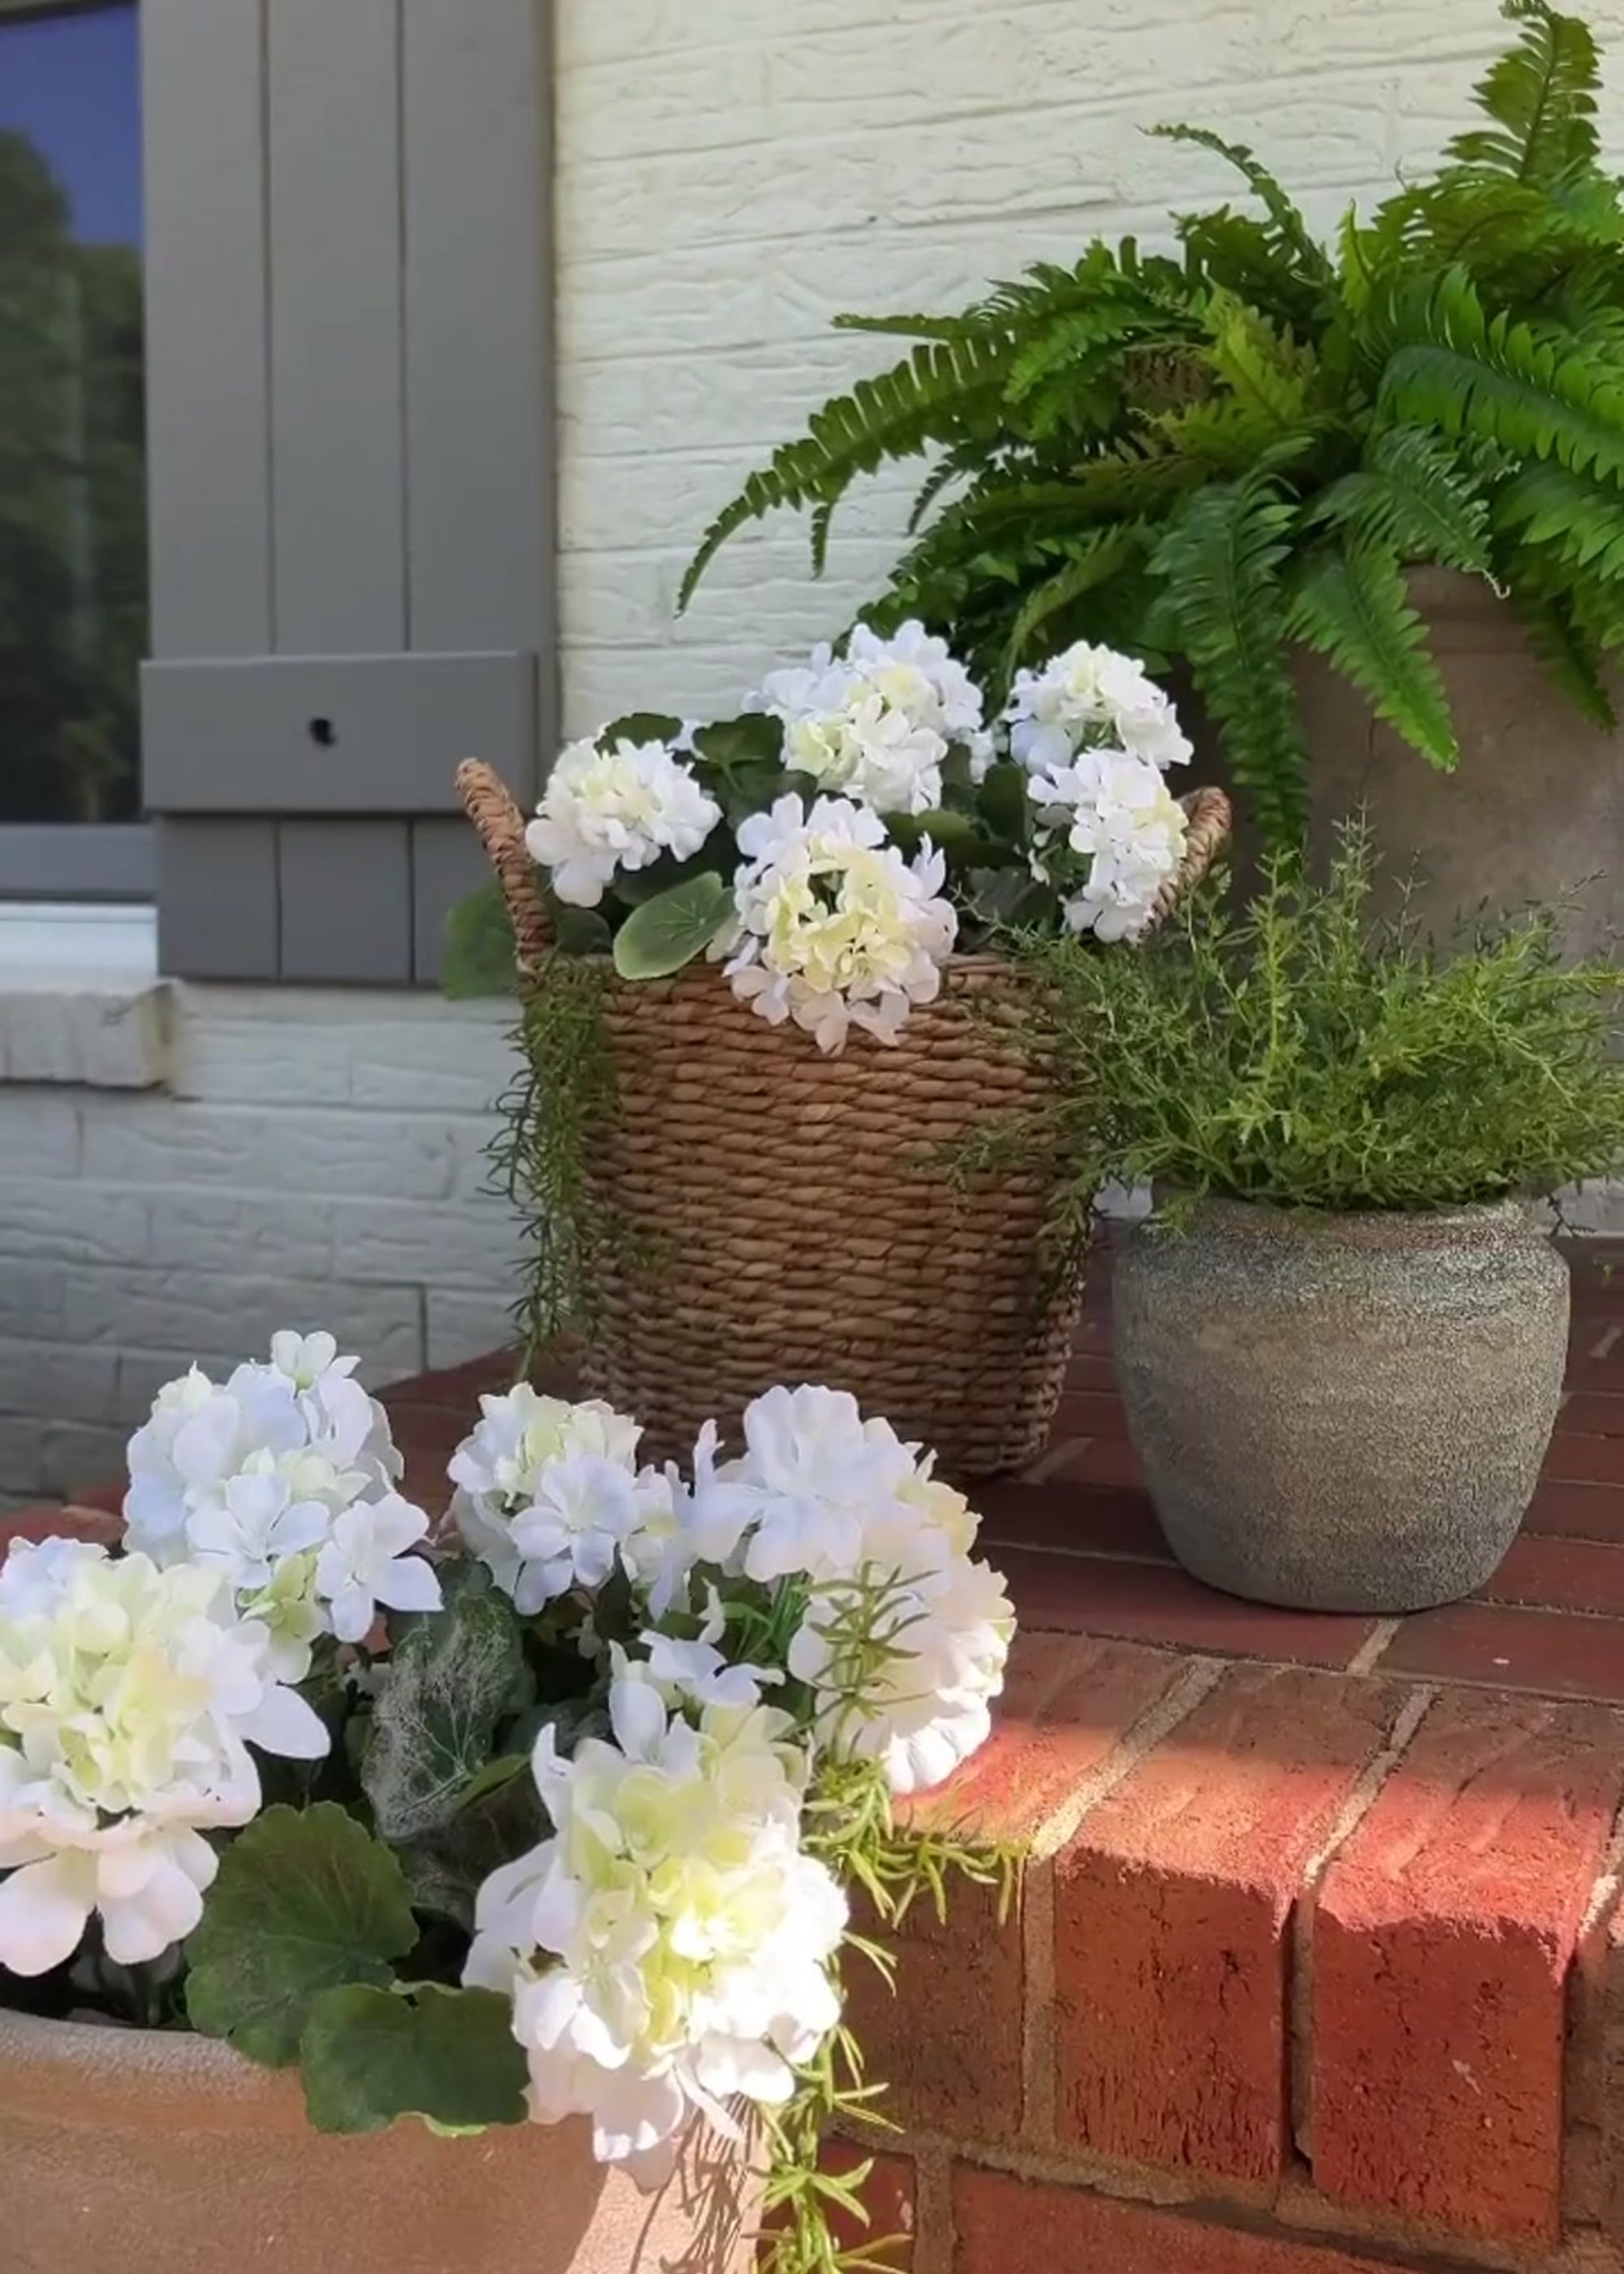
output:
[[[1055,1858],[1060,2133],[1269,2188],[1287,2156],[1287,1935],[1399,1694],[1231,1667]]]

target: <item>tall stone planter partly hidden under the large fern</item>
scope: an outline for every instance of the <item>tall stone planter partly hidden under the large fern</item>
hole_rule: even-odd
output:
[[[1365,807],[1392,871],[1387,891],[1412,866],[1428,930],[1444,935],[1483,905],[1576,894],[1569,948],[1610,948],[1624,923],[1624,730],[1590,725],[1481,580],[1417,568],[1410,596],[1449,687],[1460,764],[1428,766],[1356,687],[1319,657],[1299,657],[1319,844]]]

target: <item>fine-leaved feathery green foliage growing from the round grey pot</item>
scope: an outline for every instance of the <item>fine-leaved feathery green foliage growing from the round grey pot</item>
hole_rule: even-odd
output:
[[[1199,894],[1137,955],[1028,944],[1074,1157],[1101,1182],[1278,1207],[1424,1210],[1624,1167],[1624,973],[1535,912],[1440,953],[1372,914],[1369,837],[1287,860],[1244,914]],[[1049,1132],[1053,1137],[1053,1130]]]

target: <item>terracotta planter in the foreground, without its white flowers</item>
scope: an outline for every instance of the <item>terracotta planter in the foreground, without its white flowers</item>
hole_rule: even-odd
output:
[[[705,2147],[657,2197],[585,2124],[444,2140],[305,2124],[209,2038],[0,2012],[7,2274],[746,2274],[755,2188]]]

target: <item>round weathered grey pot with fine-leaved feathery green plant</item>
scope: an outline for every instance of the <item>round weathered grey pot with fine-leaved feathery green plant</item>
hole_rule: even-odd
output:
[[[1547,1196],[1624,1167],[1617,962],[1553,912],[1440,957],[1372,921],[1369,835],[1276,860],[1142,957],[1033,941],[1033,1046],[1071,1207],[1155,1214],[1115,1258],[1128,1430],[1178,1560],[1303,1610],[1406,1612],[1497,1569],[1567,1358]],[[1044,1144],[1055,1137],[1044,1130]]]

